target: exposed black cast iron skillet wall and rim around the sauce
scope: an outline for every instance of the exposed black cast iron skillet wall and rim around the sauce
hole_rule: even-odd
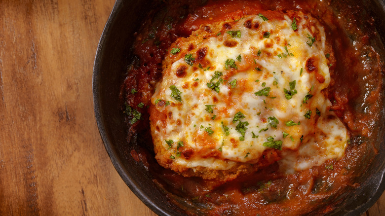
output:
[[[385,0],[363,0],[366,10],[375,17],[376,29],[385,43]],[[151,210],[160,216],[185,215],[185,210],[168,201],[155,186],[142,163],[130,155],[133,143],[127,140],[127,126],[119,109],[119,90],[126,71],[127,53],[134,41],[147,0],[116,0],[106,23],[96,52],[93,70],[93,98],[96,122],[111,161],[120,177]],[[383,53],[384,54],[384,53]],[[383,106],[385,107],[385,106]],[[342,204],[330,215],[358,216],[368,210],[385,189],[385,110],[382,110],[381,128],[376,142],[378,154],[359,181],[361,187],[345,194]],[[130,143],[130,144],[128,144]],[[194,212],[193,210],[191,212]]]

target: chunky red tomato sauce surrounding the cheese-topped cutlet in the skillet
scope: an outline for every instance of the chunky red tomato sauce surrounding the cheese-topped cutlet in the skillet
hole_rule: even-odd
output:
[[[127,115],[129,134],[142,134],[146,144],[131,155],[142,161],[171,202],[191,215],[270,216],[324,215],[337,208],[346,191],[357,182],[376,154],[374,140],[383,104],[381,57],[375,40],[373,19],[349,1],[271,0],[169,0],[154,6],[136,33],[132,64],[121,87],[122,110],[135,108],[140,118]],[[154,160],[147,105],[154,84],[161,77],[162,60],[178,37],[190,36],[201,24],[211,24],[262,13],[282,19],[286,10],[300,10],[316,17],[324,26],[330,49],[332,82],[324,90],[330,109],[348,129],[350,142],[345,155],[321,166],[283,176],[275,163],[249,176],[218,185],[216,181],[185,178],[160,167]],[[139,106],[143,103],[143,106]],[[138,116],[136,116],[138,117]],[[132,124],[130,124],[131,122]],[[337,201],[336,201],[337,200]]]

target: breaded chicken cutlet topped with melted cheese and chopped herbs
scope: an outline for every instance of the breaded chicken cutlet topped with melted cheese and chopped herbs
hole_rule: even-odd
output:
[[[278,163],[282,173],[344,155],[346,127],[324,90],[333,50],[298,11],[202,24],[168,49],[150,104],[158,163],[221,181]]]

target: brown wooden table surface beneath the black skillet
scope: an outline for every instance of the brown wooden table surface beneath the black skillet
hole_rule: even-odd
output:
[[[155,216],[117,174],[92,67],[114,0],[0,0],[0,215]],[[385,215],[385,195],[364,215]]]

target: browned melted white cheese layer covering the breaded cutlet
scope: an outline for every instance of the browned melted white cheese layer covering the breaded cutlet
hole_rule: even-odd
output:
[[[194,41],[194,50],[208,48],[205,60],[209,64],[204,68],[199,68],[196,62],[190,66],[184,58],[180,58],[164,70],[163,79],[152,96],[152,103],[160,112],[169,114],[166,127],[161,128],[160,132],[155,131],[155,136],[174,142],[171,147],[163,142],[166,152],[170,157],[175,157],[173,163],[192,169],[205,167],[213,170],[230,169],[236,162],[257,163],[262,153],[270,148],[263,145],[269,137],[273,137],[274,141],[282,141],[282,159],[278,163],[280,169],[287,173],[343,156],[348,141],[346,127],[334,112],[328,110],[331,103],[321,93],[330,83],[323,52],[323,28],[320,25],[308,27],[305,22],[300,22],[297,23],[298,30],[293,31],[292,20],[286,15],[283,20],[264,21],[259,16],[243,20],[247,19],[258,22],[259,28],[248,29],[241,20],[231,23],[231,31],[240,31],[240,37],[223,33]],[[265,32],[270,32],[269,38],[263,37]],[[319,35],[309,46],[307,42],[314,32]],[[226,47],[224,41],[229,40],[236,41],[236,45]],[[194,50],[188,52],[182,49],[181,53],[191,53],[196,58]],[[257,55],[259,50],[261,53]],[[237,60],[239,55],[241,61]],[[314,72],[307,71],[309,57],[318,60],[316,67],[318,74],[324,78],[323,83],[317,81]],[[238,70],[226,69],[225,62],[228,59],[235,61]],[[187,66],[185,77],[176,75],[181,66]],[[221,77],[226,79],[219,85],[219,93],[206,84],[210,83],[215,72],[223,72]],[[230,82],[234,79],[237,84],[231,87]],[[296,80],[297,94],[288,100],[283,89],[290,90],[289,82],[293,80]],[[266,84],[262,86],[262,83]],[[181,102],[171,97],[171,85],[181,91]],[[255,94],[266,87],[270,88],[268,96]],[[312,98],[303,103],[307,94],[311,94]],[[156,106],[156,100],[168,101],[171,105]],[[214,105],[213,113],[207,112],[205,105]],[[320,116],[317,116],[316,108]],[[311,110],[310,119],[305,117],[308,110]],[[242,135],[236,131],[239,121],[233,123],[234,115],[238,112],[245,116],[241,121],[248,122],[244,141],[240,141]],[[212,119],[214,115],[216,118]],[[276,128],[269,124],[269,117],[278,120]],[[288,121],[300,122],[300,125],[286,126]],[[222,122],[229,128],[228,136]],[[159,120],[155,125],[162,124]],[[206,128],[213,133],[209,135]],[[266,131],[262,130],[266,128]],[[253,138],[253,133],[258,138]],[[289,135],[284,138],[285,133]],[[197,139],[199,137],[203,139]],[[207,138],[206,141],[204,138]],[[216,156],[185,159],[178,156],[178,141],[183,141],[185,146],[195,151],[216,151]]]

